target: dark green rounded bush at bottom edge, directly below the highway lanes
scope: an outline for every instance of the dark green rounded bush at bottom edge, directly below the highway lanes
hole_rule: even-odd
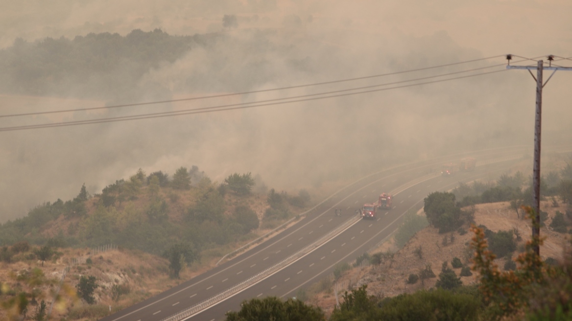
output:
[[[325,320],[319,307],[308,306],[296,299],[282,301],[276,296],[245,300],[240,311],[227,312],[227,321],[319,321]]]

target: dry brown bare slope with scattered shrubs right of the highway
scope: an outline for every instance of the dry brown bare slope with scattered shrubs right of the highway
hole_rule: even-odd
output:
[[[545,260],[553,258],[562,262],[565,250],[567,246],[570,246],[570,234],[555,232],[549,226],[557,211],[566,212],[569,207],[553,207],[552,202],[542,202],[541,210],[548,213],[548,218],[545,220],[546,227],[541,228],[541,235],[546,236],[544,245],[541,247],[541,256]],[[418,214],[424,215],[423,211]],[[517,250],[513,254],[513,258],[524,250],[525,240],[531,231],[530,222],[517,218],[515,211],[510,208],[510,202],[477,204],[474,219],[476,225],[486,226],[493,232],[517,228],[523,239],[517,241]],[[423,288],[435,287],[443,262],[447,261],[448,267],[451,267],[452,259],[459,258],[463,266],[472,265],[470,259],[473,251],[469,244],[474,235],[467,230],[468,226],[465,225],[459,230],[463,231],[462,234],[459,231],[439,234],[438,228],[429,226],[417,232],[401,249],[395,246],[395,238],[391,238],[371,252],[372,254],[394,252],[392,259],[382,260],[379,265],[367,264],[365,267],[351,268],[343,272],[343,275],[333,282],[333,286],[333,279],[330,277],[329,282],[326,282],[329,286],[323,286],[324,291],[315,294],[308,300],[329,314],[336,304],[336,287],[339,299],[341,299],[341,294],[344,291],[358,288],[363,284],[367,284],[368,294],[380,298],[394,297],[403,293],[411,294]],[[446,244],[444,239],[447,239]],[[419,251],[419,248],[422,250]],[[421,252],[421,257],[418,255],[419,252]],[[502,270],[506,260],[507,258],[498,258],[495,263]],[[426,268],[427,264],[430,264],[431,270],[437,277],[426,279],[424,282],[419,280],[415,284],[407,284],[410,274],[419,274],[420,270]],[[453,270],[464,285],[476,284],[477,274],[475,272],[472,272],[472,276],[460,276],[461,268],[454,268]],[[319,287],[320,282],[309,288],[308,292]]]

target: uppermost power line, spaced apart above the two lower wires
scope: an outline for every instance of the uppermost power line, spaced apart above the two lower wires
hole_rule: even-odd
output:
[[[9,114],[9,115],[0,115],[0,118],[19,117],[19,116],[31,116],[31,115],[45,115],[45,114],[58,114],[58,113],[70,113],[70,112],[74,112],[74,111],[88,111],[88,110],[113,109],[113,108],[134,107],[134,106],[144,106],[144,105],[156,105],[156,104],[160,104],[160,103],[172,103],[172,102],[194,101],[194,100],[199,100],[199,99],[221,98],[221,97],[229,97],[229,96],[235,96],[235,95],[265,93],[265,92],[268,92],[268,91],[278,91],[278,90],[288,90],[288,89],[296,89],[296,88],[310,87],[310,86],[329,85],[329,84],[332,84],[332,83],[349,82],[349,81],[356,81],[356,80],[370,79],[370,78],[378,78],[378,77],[384,77],[384,76],[390,76],[390,75],[413,73],[413,72],[415,72],[415,71],[423,71],[423,70],[430,70],[430,69],[436,69],[436,68],[442,68],[442,67],[448,67],[448,66],[455,66],[455,65],[461,65],[461,64],[463,64],[463,63],[483,61],[483,60],[493,59],[493,58],[499,58],[499,57],[504,57],[504,55],[496,55],[496,56],[487,57],[487,58],[479,58],[479,59],[472,59],[472,60],[462,61],[462,62],[447,63],[446,65],[438,65],[438,66],[432,66],[432,67],[424,67],[424,68],[418,68],[418,69],[411,69],[411,70],[404,70],[404,71],[396,71],[396,72],[394,72],[394,73],[386,73],[386,74],[370,75],[370,76],[364,76],[364,77],[339,79],[339,80],[336,80],[336,81],[328,81],[328,82],[309,83],[309,84],[305,84],[305,85],[279,87],[279,88],[273,88],[273,89],[262,89],[262,90],[243,91],[243,92],[241,92],[241,93],[232,93],[232,94],[207,95],[207,96],[192,97],[192,98],[170,99],[170,100],[166,100],[166,101],[142,102],[142,103],[132,103],[132,104],[114,105],[114,106],[102,106],[102,107],[90,107],[90,108],[80,108],[80,109],[67,109],[67,110],[55,110],[55,111],[41,111],[41,112],[36,112],[36,113]],[[515,56],[515,57],[516,57],[516,56]],[[526,59],[528,59],[528,58],[526,58]]]

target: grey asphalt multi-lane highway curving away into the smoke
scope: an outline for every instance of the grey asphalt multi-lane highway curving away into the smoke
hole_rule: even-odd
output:
[[[402,164],[368,175],[337,191],[330,198],[308,212],[293,226],[241,255],[173,287],[144,302],[107,316],[104,321],[159,321],[177,312],[196,306],[229,288],[245,282],[269,267],[283,262],[304,248],[318,242],[324,235],[346,222],[343,230],[336,231],[325,242],[318,242],[308,252],[296,257],[279,270],[273,271],[256,283],[248,284],[224,300],[209,303],[208,307],[177,320],[223,320],[229,310],[238,310],[240,303],[249,298],[264,296],[294,296],[300,287],[309,286],[333,271],[339,262],[350,262],[363,252],[387,238],[399,226],[401,218],[410,208],[423,207],[423,198],[433,191],[450,190],[459,182],[470,182],[487,175],[505,172],[529,150],[512,147],[459,154],[422,162]],[[454,176],[440,175],[442,163],[470,155],[477,159],[475,171],[458,172]],[[358,219],[354,211],[364,203],[375,202],[382,192],[395,195],[391,210],[378,210],[375,219]],[[341,208],[342,216],[334,209]],[[349,223],[348,223],[349,222]]]

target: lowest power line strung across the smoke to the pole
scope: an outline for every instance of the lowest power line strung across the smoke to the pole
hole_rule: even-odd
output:
[[[172,117],[172,116],[190,115],[190,114],[204,114],[204,113],[213,113],[216,111],[249,109],[249,108],[253,108],[253,107],[268,107],[268,106],[275,106],[275,105],[283,105],[286,103],[315,101],[315,100],[319,100],[319,99],[344,97],[344,96],[349,96],[349,95],[358,95],[358,94],[366,94],[366,93],[375,93],[378,91],[400,89],[400,88],[405,88],[405,87],[427,85],[430,83],[439,83],[439,82],[445,82],[445,81],[452,81],[455,79],[463,79],[463,78],[470,78],[470,77],[476,77],[476,76],[493,74],[493,73],[500,73],[502,71],[506,71],[506,69],[488,71],[486,73],[466,75],[466,76],[455,77],[455,78],[440,79],[440,80],[436,80],[436,81],[428,81],[428,82],[414,83],[414,84],[409,84],[409,85],[395,86],[395,87],[389,87],[389,88],[358,91],[355,93],[335,94],[335,95],[329,95],[329,96],[324,96],[324,97],[312,97],[312,98],[295,99],[295,100],[288,100],[288,101],[278,101],[278,102],[270,102],[270,103],[250,102],[250,103],[231,104],[231,105],[222,105],[222,106],[214,106],[214,107],[202,107],[202,108],[197,108],[197,109],[188,109],[188,110],[180,110],[180,111],[166,111],[166,112],[162,112],[162,113],[150,113],[150,114],[123,116],[123,117],[89,119],[86,121],[72,121],[72,122],[45,123],[45,124],[27,125],[27,126],[0,127],[0,131],[29,130],[29,129],[50,128],[50,127],[88,125],[88,124],[96,124],[96,123],[135,121],[135,120],[139,120],[139,119],[152,119],[152,118]],[[281,98],[281,99],[275,99],[275,100],[283,100],[283,99],[292,99],[292,98]],[[256,104],[258,104],[258,105],[256,105]]]

